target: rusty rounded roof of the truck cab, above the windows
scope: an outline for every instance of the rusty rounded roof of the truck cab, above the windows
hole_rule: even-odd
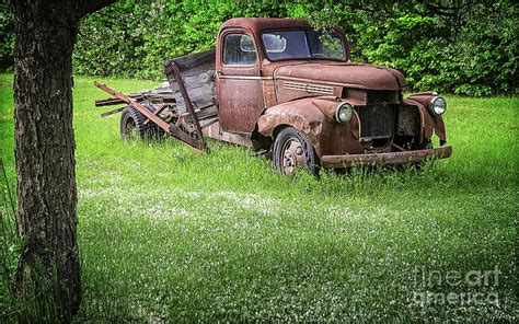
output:
[[[310,28],[308,21],[302,19],[288,18],[234,18],[226,21],[220,31],[226,27],[245,27],[254,34],[260,34],[264,30],[278,28]]]

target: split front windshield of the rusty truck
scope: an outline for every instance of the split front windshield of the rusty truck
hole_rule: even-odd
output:
[[[268,31],[262,34],[262,40],[269,60],[346,60],[343,38],[336,32]]]

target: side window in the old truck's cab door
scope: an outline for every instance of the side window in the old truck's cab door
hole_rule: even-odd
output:
[[[223,63],[227,66],[250,66],[257,55],[251,36],[229,34],[223,39]]]

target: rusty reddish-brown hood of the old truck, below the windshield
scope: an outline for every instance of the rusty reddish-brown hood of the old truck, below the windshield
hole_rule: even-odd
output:
[[[305,62],[277,68],[275,80],[288,79],[335,83],[345,88],[366,90],[401,90],[404,76],[394,69],[350,62]]]

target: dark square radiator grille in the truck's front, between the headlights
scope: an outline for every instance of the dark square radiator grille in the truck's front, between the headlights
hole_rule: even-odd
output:
[[[394,131],[394,105],[369,104],[358,107],[361,139],[389,138]]]

